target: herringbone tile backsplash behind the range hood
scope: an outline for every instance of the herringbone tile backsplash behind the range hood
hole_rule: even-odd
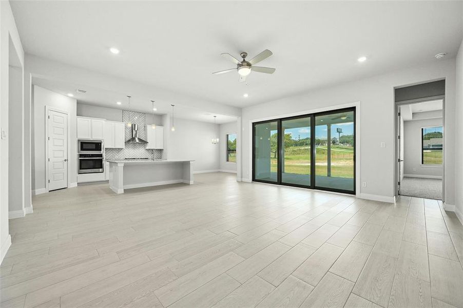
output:
[[[138,124],[138,137],[146,140],[146,114],[135,111],[122,111],[122,121]],[[125,140],[132,137],[132,128],[125,126]],[[144,144],[126,143],[124,149],[105,149],[106,159],[125,159],[125,158],[153,158],[151,150],[145,149]],[[155,150],[155,159],[162,158],[162,150]]]

